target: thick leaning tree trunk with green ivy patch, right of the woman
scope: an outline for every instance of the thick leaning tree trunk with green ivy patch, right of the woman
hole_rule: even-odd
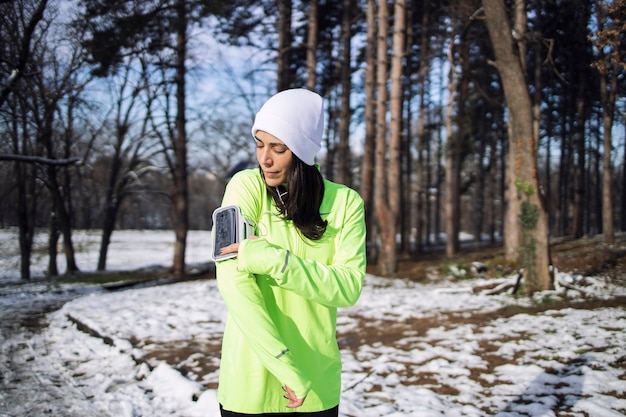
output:
[[[514,49],[511,26],[503,0],[483,0],[487,29],[510,111],[512,173],[520,201],[522,243],[519,259],[527,294],[553,288],[549,270],[547,216],[537,178],[537,144],[532,107],[522,61]],[[523,8],[522,8],[523,10]]]

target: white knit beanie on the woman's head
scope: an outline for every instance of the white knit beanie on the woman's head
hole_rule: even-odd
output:
[[[284,90],[261,107],[252,125],[282,140],[307,165],[315,163],[324,131],[324,103],[319,94],[303,88]]]

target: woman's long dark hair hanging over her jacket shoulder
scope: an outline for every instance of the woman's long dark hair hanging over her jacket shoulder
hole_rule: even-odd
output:
[[[307,165],[293,154],[286,189],[284,185],[280,185],[267,187],[267,190],[285,220],[292,220],[300,233],[311,240],[322,238],[328,225],[320,215],[320,206],[324,198],[324,179],[315,165]]]

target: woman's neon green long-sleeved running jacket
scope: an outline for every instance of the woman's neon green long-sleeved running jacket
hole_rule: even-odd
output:
[[[341,357],[337,307],[354,305],[365,277],[363,200],[324,180],[317,241],[283,220],[258,169],[237,173],[222,205],[237,205],[260,239],[245,240],[237,258],[216,264],[228,307],[218,401],[240,413],[322,411],[339,404]],[[286,408],[282,386],[306,397]]]

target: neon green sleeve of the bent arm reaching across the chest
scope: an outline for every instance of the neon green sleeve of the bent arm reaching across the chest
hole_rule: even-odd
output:
[[[266,239],[246,240],[239,247],[239,269],[272,277],[281,288],[320,304],[354,305],[365,278],[365,215],[363,200],[348,199],[330,265],[293,255]]]

